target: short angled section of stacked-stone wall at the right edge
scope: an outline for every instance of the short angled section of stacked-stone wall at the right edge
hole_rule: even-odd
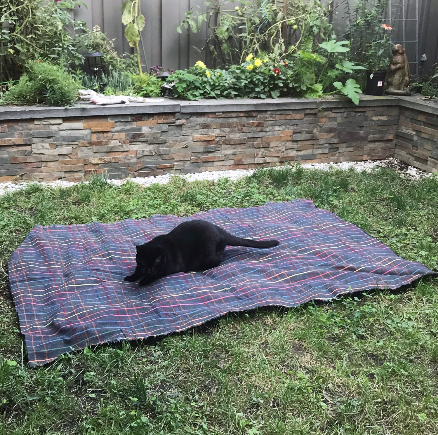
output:
[[[438,170],[438,105],[400,101],[395,157],[422,170]]]

